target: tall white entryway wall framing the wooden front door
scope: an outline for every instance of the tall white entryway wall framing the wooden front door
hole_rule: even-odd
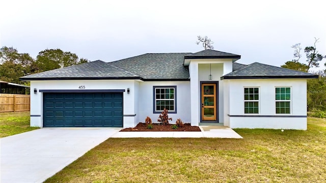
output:
[[[191,82],[191,118],[193,126],[198,126],[200,123],[200,81],[219,81],[219,123],[224,122],[224,81],[221,81],[221,77],[230,72],[232,72],[232,59],[190,60],[189,75]],[[208,79],[210,73],[212,80]]]

